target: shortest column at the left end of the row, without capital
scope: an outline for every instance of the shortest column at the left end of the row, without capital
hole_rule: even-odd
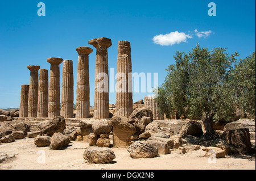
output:
[[[19,117],[27,117],[28,115],[28,91],[30,85],[22,85],[20,91]]]

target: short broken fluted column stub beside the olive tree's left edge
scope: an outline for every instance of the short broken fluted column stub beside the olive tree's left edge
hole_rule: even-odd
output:
[[[154,120],[164,119],[164,116],[161,115],[158,110],[158,105],[155,102],[154,96],[144,97],[144,107],[152,111]]]

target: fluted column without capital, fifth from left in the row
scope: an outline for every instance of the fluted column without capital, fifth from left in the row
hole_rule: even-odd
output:
[[[73,117],[74,102],[74,77],[73,61],[63,61],[62,89],[61,89],[61,113],[63,117]]]

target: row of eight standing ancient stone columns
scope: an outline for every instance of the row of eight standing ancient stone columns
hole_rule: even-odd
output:
[[[95,68],[95,95],[94,95],[94,118],[109,118],[109,92],[99,91],[98,83],[102,80],[102,73],[109,75],[108,48],[112,41],[102,37],[88,41],[96,48]],[[76,118],[90,117],[90,87],[89,87],[89,54],[92,48],[79,47],[76,49],[79,54],[77,66],[77,97],[76,97]],[[47,58],[51,64],[49,82],[48,70],[40,69],[40,66],[29,65],[30,85],[22,85],[20,92],[20,116],[19,117],[73,117],[73,62],[62,58]],[[60,64],[63,62],[63,78],[61,85],[61,108],[60,108]],[[40,69],[39,76],[38,70]],[[117,73],[126,75],[131,73],[131,47],[129,41],[118,42],[118,63]],[[100,76],[99,76],[100,74]],[[38,81],[39,77],[39,81]],[[118,80],[119,81],[119,80]],[[49,85],[49,86],[48,86]],[[109,81],[101,87],[102,90],[109,90]],[[126,91],[117,92],[117,108],[120,109],[119,116],[129,117],[133,112],[133,95],[126,85]]]

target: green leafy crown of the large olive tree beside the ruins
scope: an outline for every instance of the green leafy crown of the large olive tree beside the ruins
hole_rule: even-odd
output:
[[[234,82],[233,65],[237,56],[238,53],[229,55],[225,48],[208,50],[208,48],[201,48],[198,44],[189,53],[177,51],[174,56],[176,64],[166,69],[168,75],[158,89],[156,102],[160,112],[165,113],[169,119],[176,113],[189,119],[200,119],[204,113],[205,120],[208,122],[219,119],[232,120],[233,113],[236,111],[235,87],[230,82]],[[245,67],[247,66],[251,67],[251,64],[246,63]],[[253,73],[250,75],[252,76]],[[250,89],[253,91],[253,86],[250,86]],[[244,103],[243,106],[245,106]]]

